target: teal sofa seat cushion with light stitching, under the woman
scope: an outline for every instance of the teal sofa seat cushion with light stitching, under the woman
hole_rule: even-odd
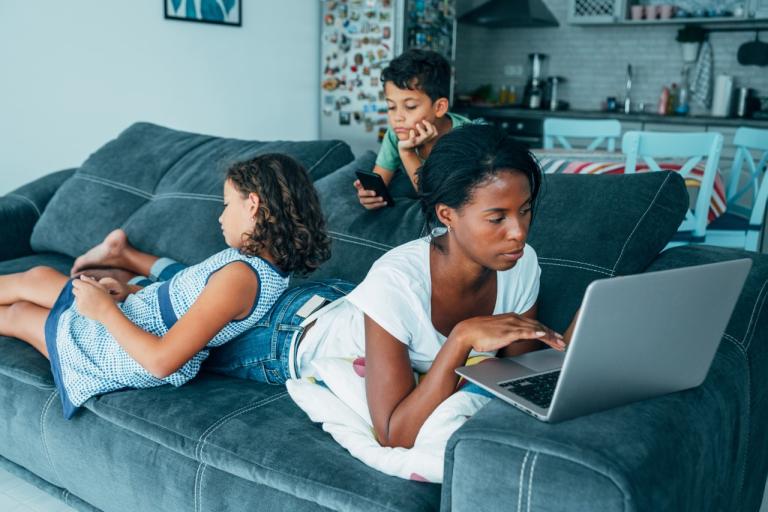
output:
[[[283,386],[202,373],[180,388],[120,391],[86,407],[186,457],[331,509],[439,508],[440,486],[389,477],[354,459]]]

